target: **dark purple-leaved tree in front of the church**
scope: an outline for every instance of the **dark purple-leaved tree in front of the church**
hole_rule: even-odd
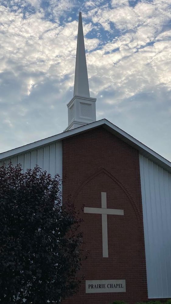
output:
[[[36,166],[0,168],[0,302],[59,303],[77,291],[81,219],[61,179]]]

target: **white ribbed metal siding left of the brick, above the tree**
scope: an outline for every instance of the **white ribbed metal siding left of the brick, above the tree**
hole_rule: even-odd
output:
[[[33,169],[36,165],[39,165],[40,168],[50,173],[52,177],[58,173],[62,178],[62,141],[2,161],[0,166],[4,163],[8,164],[9,161],[12,162],[13,166],[21,163],[24,172],[28,168]]]

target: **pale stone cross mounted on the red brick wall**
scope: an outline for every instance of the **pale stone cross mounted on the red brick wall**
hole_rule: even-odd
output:
[[[106,192],[101,192],[101,198],[102,208],[84,207],[84,213],[96,213],[102,215],[103,257],[108,257],[107,214],[124,215],[124,210],[107,209]]]

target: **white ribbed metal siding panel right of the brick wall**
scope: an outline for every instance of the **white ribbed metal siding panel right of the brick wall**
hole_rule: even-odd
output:
[[[140,154],[149,298],[171,297],[171,174]]]

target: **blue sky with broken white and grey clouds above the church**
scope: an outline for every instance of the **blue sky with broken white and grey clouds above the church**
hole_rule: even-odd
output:
[[[0,153],[68,126],[80,7],[96,119],[171,161],[171,0],[0,0]]]

